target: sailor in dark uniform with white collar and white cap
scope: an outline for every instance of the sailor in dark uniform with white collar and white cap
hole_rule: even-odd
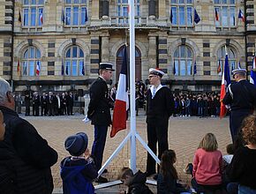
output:
[[[169,116],[174,110],[173,95],[167,86],[161,85],[164,72],[149,69],[150,89],[147,90],[147,146],[156,153],[158,158],[168,149]],[[147,153],[147,176],[155,174],[155,160]]]

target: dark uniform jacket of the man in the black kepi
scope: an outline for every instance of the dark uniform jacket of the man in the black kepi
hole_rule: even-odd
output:
[[[92,124],[109,125],[111,115],[109,110],[109,90],[105,80],[99,77],[90,87],[90,102],[87,116]]]

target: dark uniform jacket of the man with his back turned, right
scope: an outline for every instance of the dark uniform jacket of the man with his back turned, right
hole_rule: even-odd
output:
[[[231,106],[231,111],[247,110],[252,112],[256,108],[256,87],[247,80],[240,80],[231,84],[230,90],[226,93],[223,103]],[[232,97],[233,96],[233,97]]]

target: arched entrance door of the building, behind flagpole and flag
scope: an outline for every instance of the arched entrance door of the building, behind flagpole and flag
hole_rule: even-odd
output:
[[[130,55],[129,55],[129,48],[128,50],[128,66],[130,65]],[[117,51],[117,70],[116,70],[116,83],[119,79],[119,74],[121,71],[122,63],[123,63],[123,55],[124,55],[124,46],[118,49]],[[129,71],[129,68],[128,68]],[[135,78],[141,80],[141,54],[139,48],[135,47]],[[134,80],[135,81],[135,80]]]

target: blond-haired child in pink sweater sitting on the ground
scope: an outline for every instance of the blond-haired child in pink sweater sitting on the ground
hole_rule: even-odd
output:
[[[198,192],[222,190],[222,153],[213,133],[201,140],[193,159],[192,187]]]

